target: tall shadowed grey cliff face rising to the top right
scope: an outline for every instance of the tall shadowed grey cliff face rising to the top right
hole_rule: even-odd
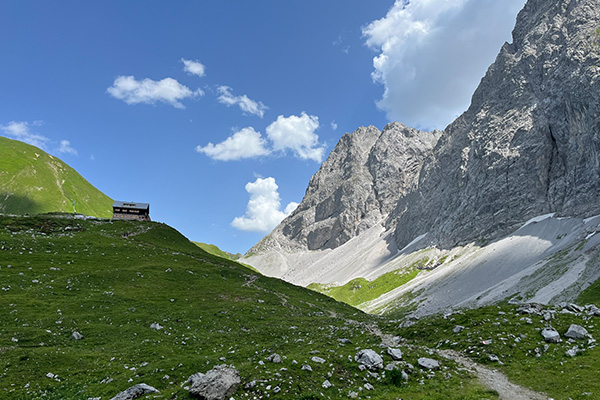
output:
[[[388,226],[399,246],[494,239],[535,215],[600,213],[600,1],[530,0]]]

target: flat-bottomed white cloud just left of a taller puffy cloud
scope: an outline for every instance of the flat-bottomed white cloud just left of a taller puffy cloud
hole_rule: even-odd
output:
[[[242,158],[252,158],[270,153],[265,147],[266,141],[254,128],[247,127],[225,141],[217,144],[208,143],[206,146],[197,146],[198,153],[204,153],[214,160],[230,161]]]

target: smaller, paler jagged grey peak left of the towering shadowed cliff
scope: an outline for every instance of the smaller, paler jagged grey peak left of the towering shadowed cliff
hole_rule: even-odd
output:
[[[331,249],[384,220],[416,188],[440,132],[399,123],[345,134],[312,177],[296,210],[250,253]]]

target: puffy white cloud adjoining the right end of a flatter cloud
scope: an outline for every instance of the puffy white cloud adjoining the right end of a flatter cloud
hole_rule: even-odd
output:
[[[292,150],[301,159],[321,162],[325,155],[325,146],[319,143],[315,130],[319,127],[319,118],[302,113],[299,117],[280,115],[266,129],[267,136],[273,142],[274,151]]]

